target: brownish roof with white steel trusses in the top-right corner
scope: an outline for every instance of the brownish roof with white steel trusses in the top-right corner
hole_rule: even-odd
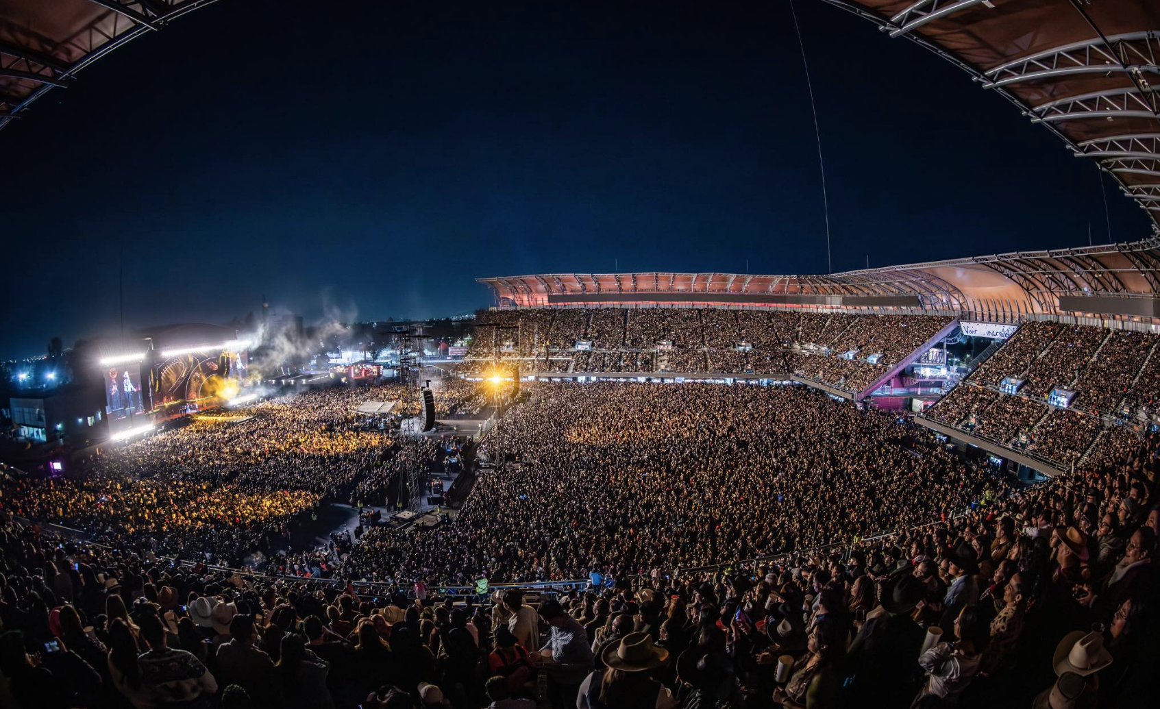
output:
[[[826,1],[918,42],[1017,106],[1111,174],[1160,232],[1160,2]],[[922,101],[921,87],[914,96]]]

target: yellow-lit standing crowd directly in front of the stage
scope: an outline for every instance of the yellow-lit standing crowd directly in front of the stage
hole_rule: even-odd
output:
[[[441,382],[436,408],[476,412],[477,389]],[[195,417],[100,448],[67,477],[12,480],[5,497],[16,514],[101,541],[235,565],[269,557],[287,545],[290,524],[324,501],[384,504],[399,470],[433,464],[434,447],[403,448],[355,412],[401,393],[386,384],[332,388]]]

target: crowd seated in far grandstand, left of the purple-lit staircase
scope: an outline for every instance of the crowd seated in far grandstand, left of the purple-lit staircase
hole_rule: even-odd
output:
[[[948,323],[947,317],[715,308],[494,310],[478,313],[469,355],[535,353],[525,371],[539,372],[798,374],[861,391]],[[543,332],[550,333],[546,340],[537,334]],[[530,338],[536,345],[529,348]],[[578,341],[592,342],[594,352],[570,354]],[[510,349],[503,342],[512,342]],[[739,349],[742,343],[748,352]],[[564,356],[572,356],[571,367]],[[465,372],[471,371],[467,364]]]

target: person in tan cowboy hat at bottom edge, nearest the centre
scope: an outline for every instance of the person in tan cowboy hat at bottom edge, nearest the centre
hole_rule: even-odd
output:
[[[650,675],[668,661],[668,650],[655,646],[647,632],[630,632],[619,642],[608,643],[601,649],[601,660],[606,670],[600,686],[589,687],[589,707],[647,707],[648,697],[655,697],[654,709],[676,707],[673,693]]]

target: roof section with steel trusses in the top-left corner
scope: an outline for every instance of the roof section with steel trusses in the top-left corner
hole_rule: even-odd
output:
[[[0,129],[125,42],[215,0],[0,2]]]

